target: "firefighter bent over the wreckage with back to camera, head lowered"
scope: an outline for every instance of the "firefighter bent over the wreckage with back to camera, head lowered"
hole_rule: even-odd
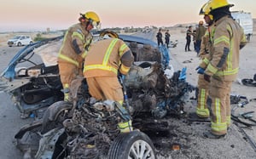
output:
[[[124,94],[118,75],[125,76],[128,73],[134,58],[130,48],[115,32],[107,31],[101,35],[105,38],[90,45],[84,60],[84,77],[92,97],[99,100],[110,99],[122,106]],[[131,118],[119,122],[118,128],[121,133],[130,132]]]

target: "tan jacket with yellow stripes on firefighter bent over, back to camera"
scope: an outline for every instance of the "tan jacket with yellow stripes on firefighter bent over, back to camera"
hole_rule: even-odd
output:
[[[117,77],[126,75],[134,60],[130,48],[118,38],[91,43],[84,60],[84,77]]]

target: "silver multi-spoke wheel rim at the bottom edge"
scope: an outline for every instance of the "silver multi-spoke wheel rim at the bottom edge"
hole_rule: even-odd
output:
[[[144,140],[137,140],[131,145],[129,159],[155,159],[153,148]]]

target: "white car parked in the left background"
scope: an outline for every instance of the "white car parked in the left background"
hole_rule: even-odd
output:
[[[23,45],[28,45],[33,43],[32,38],[29,36],[15,36],[11,39],[8,40],[7,44],[9,45],[9,47],[12,46],[23,46]]]

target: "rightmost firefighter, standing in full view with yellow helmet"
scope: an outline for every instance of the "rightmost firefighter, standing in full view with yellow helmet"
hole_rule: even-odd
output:
[[[211,131],[203,133],[206,138],[223,138],[230,128],[230,91],[239,69],[239,52],[247,41],[239,24],[232,19],[226,0],[209,0],[207,8],[213,16],[211,32],[211,57],[204,71],[204,79],[210,82]]]

